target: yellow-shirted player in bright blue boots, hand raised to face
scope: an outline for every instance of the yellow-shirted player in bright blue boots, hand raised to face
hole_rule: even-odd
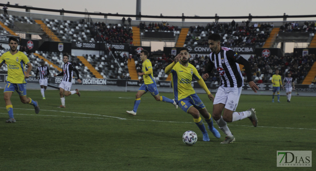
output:
[[[174,100],[183,111],[193,116],[195,124],[202,131],[203,141],[210,141],[210,138],[200,117],[200,113],[207,122],[209,130],[216,138],[220,138],[221,134],[213,127],[213,119],[210,113],[208,113],[204,103],[191,86],[192,77],[197,80],[211,101],[214,100],[214,96],[210,93],[204,80],[198,74],[197,69],[188,63],[191,57],[189,50],[182,47],[179,51],[180,53],[174,58],[173,63],[169,64],[165,69],[166,74],[171,73]]]

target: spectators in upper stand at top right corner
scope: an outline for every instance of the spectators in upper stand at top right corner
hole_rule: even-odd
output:
[[[284,25],[280,27],[280,31],[283,32],[316,32],[315,29],[315,22],[311,21],[305,21],[303,25],[299,25],[299,23],[296,22],[286,22]]]

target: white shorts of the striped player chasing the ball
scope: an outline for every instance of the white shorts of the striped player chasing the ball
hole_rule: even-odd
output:
[[[213,104],[225,104],[225,108],[235,111],[238,105],[242,87],[223,87],[220,86],[215,95]]]

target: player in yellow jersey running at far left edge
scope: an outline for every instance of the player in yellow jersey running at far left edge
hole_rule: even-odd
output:
[[[10,37],[9,38],[10,51],[3,53],[0,58],[0,68],[4,63],[8,66],[8,78],[3,90],[4,101],[9,113],[9,119],[6,120],[7,123],[15,123],[13,117],[13,106],[11,103],[11,95],[14,90],[20,95],[22,103],[28,103],[34,106],[35,113],[40,112],[40,107],[37,101],[33,101],[31,98],[26,97],[26,78],[29,77],[29,73],[32,70],[32,65],[28,60],[27,56],[17,50],[18,40]],[[27,65],[27,71],[24,74],[24,65]]]

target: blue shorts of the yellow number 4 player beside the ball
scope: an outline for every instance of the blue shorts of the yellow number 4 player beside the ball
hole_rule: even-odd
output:
[[[195,107],[197,110],[205,108],[204,103],[201,101],[201,99],[197,96],[196,93],[189,95],[185,97],[184,99],[181,99],[179,101],[176,101],[177,105],[181,107],[183,111],[188,113],[188,110],[190,107]]]

